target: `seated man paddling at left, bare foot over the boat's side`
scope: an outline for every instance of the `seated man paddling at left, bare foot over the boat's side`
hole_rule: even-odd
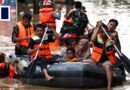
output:
[[[41,69],[44,73],[44,76],[45,76],[46,80],[49,81],[54,78],[54,77],[50,76],[47,71],[47,64],[48,64],[49,60],[52,59],[49,42],[55,41],[55,38],[50,37],[46,33],[42,46],[39,47],[39,44],[41,42],[44,31],[45,31],[45,25],[43,25],[43,24],[36,25],[35,36],[33,36],[30,40],[28,54],[31,55],[32,60],[33,60],[37,50],[39,50],[36,60],[38,60],[38,62],[40,62]],[[53,31],[55,31],[55,30],[53,30]],[[54,33],[54,35],[55,35],[55,33]]]

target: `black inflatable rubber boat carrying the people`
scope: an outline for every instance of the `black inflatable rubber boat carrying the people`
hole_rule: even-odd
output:
[[[95,64],[84,64],[82,62],[54,63],[48,66],[48,72],[55,78],[46,81],[37,65],[28,82],[27,72],[30,67],[23,71],[20,80],[32,85],[61,88],[98,88],[106,87],[107,79],[102,66]],[[120,68],[113,68],[112,86],[121,85],[125,81],[125,75]]]

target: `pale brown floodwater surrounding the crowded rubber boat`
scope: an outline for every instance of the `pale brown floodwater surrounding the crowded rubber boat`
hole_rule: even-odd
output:
[[[85,0],[84,0],[85,1]],[[90,0],[91,1],[91,0]],[[96,22],[102,20],[105,24],[111,18],[115,18],[119,21],[117,31],[119,32],[119,38],[121,41],[122,52],[130,58],[130,5],[120,3],[109,3],[107,5],[100,5],[95,2],[84,2],[83,5],[86,7],[87,15],[90,23],[95,26]],[[62,10],[62,20],[65,13],[65,9]],[[60,30],[62,20],[57,20],[57,32]],[[6,27],[6,26],[4,26]],[[9,29],[12,26],[9,27]],[[0,51],[4,51],[7,54],[14,51],[14,44],[11,43],[10,33],[11,31],[4,30],[0,34]],[[7,36],[9,35],[9,36]],[[127,73],[127,72],[126,72]],[[113,90],[129,90],[130,88],[130,75],[127,73],[126,82],[121,86],[113,87]],[[0,90],[70,90],[65,88],[50,88],[42,86],[25,85],[16,79],[1,79]],[[82,90],[82,89],[71,89],[71,90]],[[106,88],[97,89],[83,89],[83,90],[106,90]]]

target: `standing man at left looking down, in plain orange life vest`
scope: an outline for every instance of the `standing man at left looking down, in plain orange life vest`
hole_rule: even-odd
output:
[[[13,28],[12,42],[15,45],[16,56],[27,55],[30,37],[34,35],[34,27],[31,24],[32,16],[24,14],[22,20]]]

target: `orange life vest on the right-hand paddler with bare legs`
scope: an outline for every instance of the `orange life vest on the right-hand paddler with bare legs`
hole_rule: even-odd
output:
[[[108,59],[112,62],[112,64],[115,64],[117,62],[117,57],[115,56],[113,45],[111,44],[110,39],[107,39],[106,45],[104,46],[104,42],[100,34],[97,35],[97,43],[93,47],[92,59],[99,62],[104,48]]]

